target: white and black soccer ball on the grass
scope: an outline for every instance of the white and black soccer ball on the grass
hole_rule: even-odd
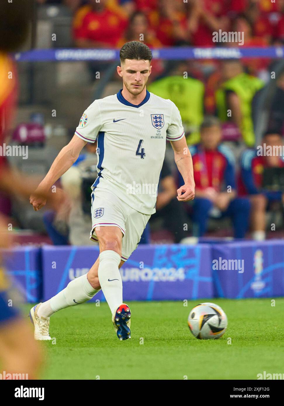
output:
[[[194,337],[201,340],[220,338],[226,331],[228,319],[215,303],[199,303],[189,313],[187,324]]]

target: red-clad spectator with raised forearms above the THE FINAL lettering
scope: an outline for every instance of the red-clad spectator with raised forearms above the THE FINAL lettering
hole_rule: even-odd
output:
[[[212,32],[228,30],[227,0],[189,0],[189,3],[188,29],[192,44],[198,47],[218,45],[212,41]]]

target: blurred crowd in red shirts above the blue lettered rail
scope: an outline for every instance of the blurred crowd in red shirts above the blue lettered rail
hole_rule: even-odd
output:
[[[150,47],[216,46],[212,32],[245,32],[245,46],[284,40],[284,1],[277,0],[37,0],[72,9],[78,47],[119,47],[141,40]]]

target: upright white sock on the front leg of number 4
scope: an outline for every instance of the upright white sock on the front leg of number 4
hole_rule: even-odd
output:
[[[98,277],[111,314],[122,301],[122,279],[118,269],[121,257],[115,251],[103,251],[99,255]]]

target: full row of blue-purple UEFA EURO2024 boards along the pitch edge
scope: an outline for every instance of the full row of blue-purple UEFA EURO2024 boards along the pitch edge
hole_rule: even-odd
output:
[[[98,246],[28,246],[2,252],[7,272],[27,302],[56,295],[86,274],[99,255]],[[120,272],[124,300],[274,298],[284,296],[284,241],[145,244]],[[102,292],[97,299],[104,300]]]

